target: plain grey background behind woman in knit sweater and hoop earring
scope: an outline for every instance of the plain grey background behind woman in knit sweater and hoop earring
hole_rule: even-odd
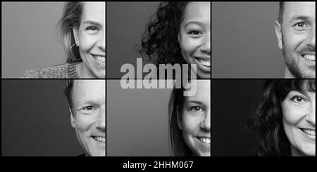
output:
[[[3,78],[19,78],[25,70],[66,62],[56,25],[63,2],[2,2],[1,61]]]

